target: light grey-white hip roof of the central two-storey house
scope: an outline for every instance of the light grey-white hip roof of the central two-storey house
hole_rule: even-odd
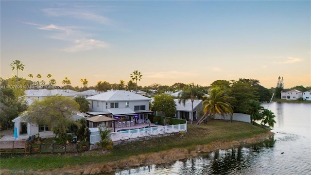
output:
[[[87,97],[86,100],[97,101],[145,101],[151,100],[148,97],[144,97],[125,90],[113,90],[100,93],[91,97]]]

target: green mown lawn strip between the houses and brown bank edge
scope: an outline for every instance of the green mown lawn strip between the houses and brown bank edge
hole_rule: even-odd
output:
[[[216,140],[242,140],[254,135],[269,132],[261,127],[242,123],[212,120],[207,125],[188,125],[188,132],[184,137],[179,134],[161,137],[145,141],[131,142],[114,146],[109,154],[103,154],[101,150],[92,150],[77,154],[46,154],[46,155],[24,155],[5,157],[1,155],[1,170],[12,171],[42,170],[51,171],[66,166],[84,165],[92,163],[104,163],[119,161],[131,156],[149,154],[173,148],[194,149],[197,145],[208,144]]]

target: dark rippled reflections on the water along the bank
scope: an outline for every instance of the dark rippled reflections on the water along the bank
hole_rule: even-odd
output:
[[[174,163],[143,166],[136,169],[116,172],[116,175],[236,175],[245,173],[258,159],[258,153],[264,148],[274,147],[275,140],[271,137],[263,142],[218,150],[199,157],[179,160]]]

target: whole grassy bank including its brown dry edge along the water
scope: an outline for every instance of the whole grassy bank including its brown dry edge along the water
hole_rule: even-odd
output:
[[[249,123],[223,120],[209,121],[207,125],[188,125],[181,136],[161,137],[114,146],[103,152],[92,150],[66,155],[28,155],[1,158],[1,174],[100,174],[112,173],[144,165],[169,163],[196,157],[218,149],[230,149],[244,144],[269,139],[274,133]],[[42,164],[41,162],[48,162]]]

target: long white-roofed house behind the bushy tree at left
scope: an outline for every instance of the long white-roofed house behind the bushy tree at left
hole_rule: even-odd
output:
[[[35,100],[43,100],[47,96],[51,95],[62,95],[70,98],[74,98],[74,94],[64,92],[62,89],[27,89],[25,90],[25,100],[27,101],[28,105],[31,105]]]

